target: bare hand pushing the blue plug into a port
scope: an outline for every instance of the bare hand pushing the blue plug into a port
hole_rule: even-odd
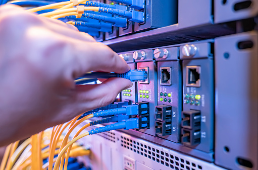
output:
[[[0,146],[112,103],[132,86],[122,78],[75,86],[87,71],[124,73],[108,46],[61,21],[0,7]]]

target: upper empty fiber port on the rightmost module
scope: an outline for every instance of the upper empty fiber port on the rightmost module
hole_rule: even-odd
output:
[[[200,119],[200,111],[198,110],[182,111],[182,128],[200,129]]]

